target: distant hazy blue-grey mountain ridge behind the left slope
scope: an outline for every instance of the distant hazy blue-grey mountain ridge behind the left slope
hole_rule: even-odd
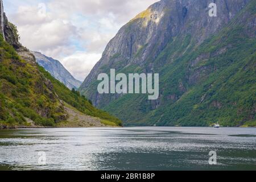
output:
[[[76,80],[71,73],[67,71],[60,63],[60,61],[47,57],[40,52],[32,52],[36,58],[36,62],[46,69],[53,77],[66,85],[69,89],[78,89],[82,84],[81,81]]]

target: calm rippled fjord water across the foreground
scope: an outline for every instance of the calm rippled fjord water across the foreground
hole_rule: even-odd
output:
[[[39,152],[46,164],[39,164]],[[209,165],[216,151],[217,165]],[[1,170],[256,170],[256,128],[127,127],[0,131]]]

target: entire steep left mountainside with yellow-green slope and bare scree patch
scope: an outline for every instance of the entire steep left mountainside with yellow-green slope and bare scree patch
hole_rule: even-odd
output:
[[[0,128],[122,125],[40,67],[2,6],[0,15]]]

